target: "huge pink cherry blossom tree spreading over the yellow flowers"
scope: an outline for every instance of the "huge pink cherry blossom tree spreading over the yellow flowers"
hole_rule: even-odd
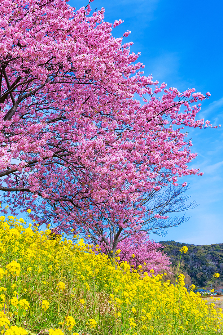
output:
[[[152,215],[149,195],[201,175],[183,129],[212,127],[196,120],[210,93],[144,76],[130,31],[112,36],[122,21],[90,11],[1,1],[0,190],[12,214],[30,208],[40,224],[90,233],[115,257]]]

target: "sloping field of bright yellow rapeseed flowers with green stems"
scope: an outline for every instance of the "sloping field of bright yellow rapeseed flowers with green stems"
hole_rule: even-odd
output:
[[[162,275],[0,217],[0,332],[5,335],[217,334],[214,304]]]

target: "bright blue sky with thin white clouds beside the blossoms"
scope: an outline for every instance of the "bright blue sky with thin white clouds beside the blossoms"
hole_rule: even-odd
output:
[[[71,0],[79,9],[87,1]],[[198,118],[223,126],[223,2],[220,0],[95,0],[93,10],[105,8],[105,20],[124,23],[113,29],[120,37],[131,34],[131,50],[141,52],[145,75],[166,82],[180,91],[195,87],[212,95],[202,104]],[[188,129],[187,129],[188,130]],[[199,206],[190,211],[191,218],[168,230],[165,240],[192,244],[223,243],[223,127],[191,129],[192,150],[198,153],[191,167],[200,168],[203,176],[190,176],[189,195]],[[159,241],[160,237],[150,235]],[[163,239],[163,238],[161,238]]]

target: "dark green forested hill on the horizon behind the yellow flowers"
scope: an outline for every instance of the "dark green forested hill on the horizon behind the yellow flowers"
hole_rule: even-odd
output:
[[[188,252],[182,255],[182,272],[191,277],[192,284],[204,286],[215,272],[219,272],[220,277],[214,286],[223,285],[223,243],[200,246],[175,241],[159,243],[165,246],[163,251],[171,258],[172,267],[179,264],[179,250],[188,247]]]

